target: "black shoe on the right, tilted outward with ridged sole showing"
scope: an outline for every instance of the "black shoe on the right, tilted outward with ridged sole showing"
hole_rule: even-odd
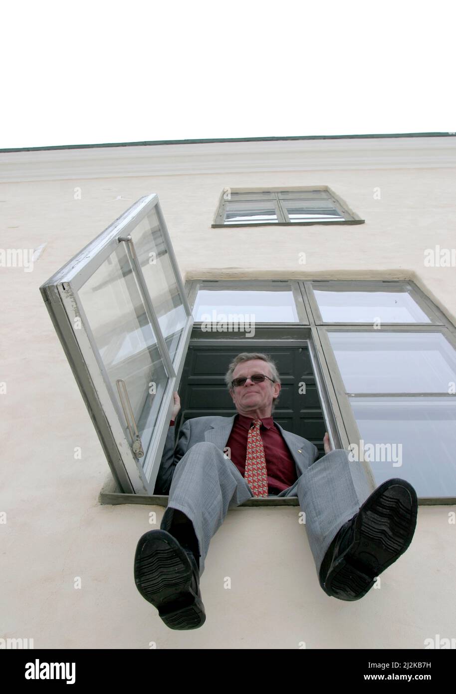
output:
[[[410,545],[417,513],[409,482],[394,478],[380,484],[329,546],[319,571],[324,592],[339,600],[362,598]]]

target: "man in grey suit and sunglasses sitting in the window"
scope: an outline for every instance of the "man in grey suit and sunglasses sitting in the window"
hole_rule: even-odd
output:
[[[358,600],[408,548],[418,503],[409,482],[380,484],[360,500],[348,453],[324,436],[320,459],[313,443],[272,419],[281,382],[267,355],[242,353],[225,382],[238,414],[187,420],[174,450],[173,421],[155,493],[169,493],[160,530],[139,539],[134,580],[139,593],[170,629],[196,629],[206,615],[200,575],[209,542],[229,507],[252,497],[297,496],[319,584],[339,600]],[[364,502],[363,502],[364,501]]]

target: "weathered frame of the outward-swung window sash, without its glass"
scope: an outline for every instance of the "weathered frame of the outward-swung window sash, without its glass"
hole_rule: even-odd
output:
[[[152,210],[155,210],[159,220],[164,248],[169,255],[174,279],[186,314],[186,323],[173,360],[161,332],[157,313],[141,271],[141,265],[137,260],[132,239],[129,238],[130,232]],[[116,251],[120,243],[125,244],[130,266],[137,280],[141,299],[155,333],[157,348],[168,375],[152,439],[143,458],[134,455],[132,448],[134,441],[132,441],[126,428],[128,418],[123,412],[118,394],[114,393],[112,384],[109,382],[103,366],[103,359],[100,357],[94,335],[78,297],[80,287]],[[87,244],[47,282],[44,282],[40,291],[89,410],[114,480],[123,493],[152,495],[173,410],[173,393],[177,390],[182,375],[193,326],[193,316],[157,194],[144,196],[134,203],[94,241]],[[80,319],[81,323],[78,330],[74,328],[76,319]]]

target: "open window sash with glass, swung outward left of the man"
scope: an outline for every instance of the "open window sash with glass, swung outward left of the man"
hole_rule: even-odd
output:
[[[152,494],[193,324],[157,195],[40,291],[114,479],[125,493]]]

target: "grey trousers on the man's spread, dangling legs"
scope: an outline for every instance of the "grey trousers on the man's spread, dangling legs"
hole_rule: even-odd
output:
[[[353,518],[369,496],[363,491],[362,498],[358,498],[347,459],[344,450],[333,450],[299,475],[295,484],[277,495],[270,495],[298,498],[301,511],[306,514],[306,533],[317,575],[337,531]],[[190,518],[200,549],[201,575],[211,537],[222,525],[228,509],[253,496],[234,462],[225,457],[215,443],[195,443],[175,468],[168,507],[160,527],[170,530],[173,509],[179,509]]]

